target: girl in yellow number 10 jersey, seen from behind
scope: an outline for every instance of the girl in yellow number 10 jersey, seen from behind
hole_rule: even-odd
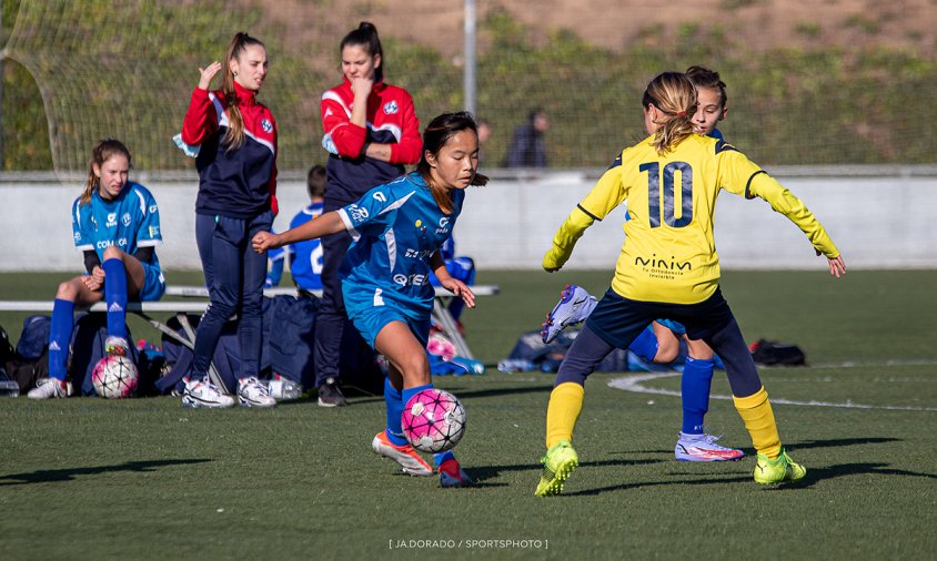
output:
[[[796,224],[829,273],[846,273],[839,251],[813,213],[776,180],[722,140],[694,134],[696,89],[682,72],[664,72],[642,99],[649,136],[625,149],[588,195],[570,213],[543,258],[558,271],[594,221],[628,201],[626,242],[612,286],[586,320],[556,375],[546,412],[546,456],[536,494],[557,494],[578,465],[573,429],[582,411],[585,379],[615,347],[625,348],[651,322],[666,317],[686,326],[725,363],[735,407],[758,458],[755,481],[796,481],[806,469],[784,451],[768,395],[719,292],[713,215],[719,190],[760,197]]]

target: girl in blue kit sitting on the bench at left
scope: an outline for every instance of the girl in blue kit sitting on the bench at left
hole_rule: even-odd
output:
[[[155,246],[162,243],[153,195],[128,181],[130,151],[107,139],[91,151],[84,193],[72,204],[74,245],[84,253],[85,275],[59,285],[49,333],[49,378],[39,380],[32,399],[68,397],[66,361],[75,306],[108,303],[109,355],[127,356],[127,303],[158,300],[165,292]]]

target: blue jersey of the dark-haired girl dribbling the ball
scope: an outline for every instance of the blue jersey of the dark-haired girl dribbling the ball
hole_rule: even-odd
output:
[[[394,306],[429,319],[435,295],[430,256],[452,235],[465,198],[463,190],[451,193],[452,214],[444,214],[423,177],[411,173],[337,211],[354,238],[339,269],[349,317]]]

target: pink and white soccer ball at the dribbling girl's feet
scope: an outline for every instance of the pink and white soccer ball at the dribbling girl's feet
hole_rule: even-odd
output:
[[[424,389],[403,407],[403,434],[410,445],[423,452],[452,449],[465,434],[465,408],[442,389]]]

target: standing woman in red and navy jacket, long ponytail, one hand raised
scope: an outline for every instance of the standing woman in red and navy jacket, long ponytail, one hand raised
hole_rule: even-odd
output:
[[[266,64],[262,42],[243,32],[234,35],[223,63],[199,69],[182,124],[182,142],[198,150],[195,242],[211,297],[195,332],[185,407],[234,405],[208,380],[222,327],[234,315],[241,347],[239,401],[245,407],[276,405],[258,379],[266,255],[254,253],[250,244],[254,234],[270,231],[276,212],[276,122],[256,101]],[[209,91],[221,71],[221,90]]]

